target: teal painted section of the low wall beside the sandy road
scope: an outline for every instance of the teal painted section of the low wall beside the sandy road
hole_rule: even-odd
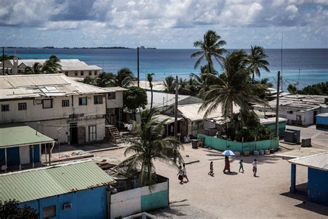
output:
[[[169,206],[168,191],[159,191],[141,196],[141,212]]]

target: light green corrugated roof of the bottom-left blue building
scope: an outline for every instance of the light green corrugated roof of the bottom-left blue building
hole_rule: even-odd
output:
[[[93,161],[77,161],[0,175],[0,200],[28,202],[115,182]]]

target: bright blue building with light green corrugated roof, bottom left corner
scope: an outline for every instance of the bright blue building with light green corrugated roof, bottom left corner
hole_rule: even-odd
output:
[[[18,200],[39,218],[106,218],[115,182],[93,161],[76,161],[0,175],[0,200]]]

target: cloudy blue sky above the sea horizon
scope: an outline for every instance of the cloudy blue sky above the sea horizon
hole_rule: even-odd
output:
[[[328,0],[0,0],[1,46],[328,48]]]

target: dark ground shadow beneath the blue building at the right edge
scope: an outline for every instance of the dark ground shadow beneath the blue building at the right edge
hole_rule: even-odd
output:
[[[328,216],[328,207],[307,201],[307,183],[298,184],[296,186],[296,193],[290,193],[288,191],[286,193],[281,193],[280,195],[302,201],[302,203],[294,205],[295,207],[307,211],[313,211],[323,216]]]

